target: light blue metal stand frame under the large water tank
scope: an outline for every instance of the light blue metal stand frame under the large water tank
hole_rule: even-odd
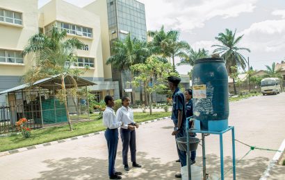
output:
[[[209,132],[196,129],[189,129],[188,123],[186,123],[186,139],[187,139],[187,163],[188,163],[188,179],[191,180],[191,165],[190,165],[190,151],[189,151],[189,134],[201,133],[202,134],[202,154],[203,154],[203,180],[206,180],[206,151],[205,151],[205,134],[218,134],[220,136],[220,179],[224,180],[224,151],[222,134],[231,130],[231,143],[232,143],[232,157],[233,157],[233,179],[236,180],[236,147],[234,141],[234,126],[229,126],[222,132]]]

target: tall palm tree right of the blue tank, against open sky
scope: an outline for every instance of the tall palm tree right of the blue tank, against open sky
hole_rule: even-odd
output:
[[[222,53],[221,57],[224,58],[226,63],[227,72],[231,77],[231,74],[234,74],[233,69],[231,69],[232,66],[238,66],[241,67],[243,70],[245,70],[246,67],[246,60],[245,57],[239,51],[247,51],[250,52],[249,48],[239,48],[238,42],[241,42],[241,39],[243,38],[243,35],[236,37],[236,30],[233,31],[226,28],[225,33],[219,33],[218,37],[215,37],[215,39],[218,40],[222,45],[213,45],[212,47],[218,47],[216,48],[213,53]],[[234,82],[234,93],[236,94],[236,84],[233,77],[231,77]]]

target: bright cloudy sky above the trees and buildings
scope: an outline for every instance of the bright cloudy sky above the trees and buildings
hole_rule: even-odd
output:
[[[39,7],[50,0],[39,0]],[[86,6],[95,0],[65,0]],[[213,52],[218,33],[226,28],[243,35],[239,47],[253,69],[266,69],[272,62],[285,60],[285,0],[138,0],[145,3],[147,30],[179,30],[184,40],[197,50]],[[177,58],[176,63],[179,62]],[[177,66],[182,74],[190,66]]]

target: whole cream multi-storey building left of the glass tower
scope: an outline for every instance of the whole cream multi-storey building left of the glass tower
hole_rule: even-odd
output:
[[[77,68],[90,66],[82,76],[97,84],[91,87],[97,100],[106,94],[118,97],[118,82],[111,81],[111,68],[104,62],[110,53],[108,31],[102,31],[98,15],[63,0],[52,0],[40,10],[38,0],[0,2],[0,91],[22,84],[22,75],[33,64],[31,56],[22,56],[24,47],[32,35],[49,33],[53,26],[66,30],[67,39],[76,37],[86,44],[76,51]],[[2,96],[0,102],[5,101]]]

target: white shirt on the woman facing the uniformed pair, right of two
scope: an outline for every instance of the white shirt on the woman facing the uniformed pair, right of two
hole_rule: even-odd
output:
[[[128,107],[128,109],[124,106],[117,109],[117,121],[124,123],[122,128],[128,129],[128,125],[131,123],[135,123],[133,121],[133,109]]]

